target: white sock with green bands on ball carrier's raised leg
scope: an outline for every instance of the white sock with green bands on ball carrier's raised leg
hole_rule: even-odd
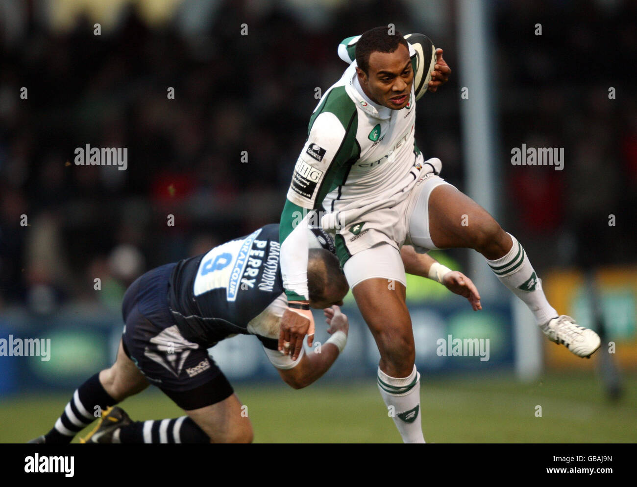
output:
[[[526,303],[538,325],[543,325],[555,318],[557,311],[548,304],[542,290],[542,280],[533,270],[524,248],[514,236],[509,236],[513,240],[511,250],[505,257],[497,260],[487,259],[487,263],[500,282]]]

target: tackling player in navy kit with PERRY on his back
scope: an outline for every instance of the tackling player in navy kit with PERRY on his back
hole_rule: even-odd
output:
[[[68,443],[96,416],[85,438],[95,443],[251,442],[245,409],[217,367],[208,348],[236,334],[255,335],[283,381],[303,388],[320,378],[347,341],[347,316],[339,305],[347,280],[323,230],[307,229],[310,306],[324,309],[331,337],[321,353],[301,353],[292,360],[278,351],[280,321],[289,308],[279,264],[279,227],[266,225],[208,253],[148,271],[128,288],[122,313],[125,327],[115,364],[95,374],[73,394],[46,435],[31,442]],[[404,265],[427,276],[435,261],[404,252]],[[474,309],[480,298],[461,272],[444,283],[464,295]],[[289,344],[283,343],[287,349]],[[132,421],[115,404],[159,387],[186,413],[180,418]],[[99,412],[100,414],[96,414]]]

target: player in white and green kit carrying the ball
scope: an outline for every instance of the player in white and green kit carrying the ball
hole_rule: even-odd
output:
[[[404,442],[424,442],[401,260],[401,252],[413,249],[404,244],[419,252],[457,247],[480,252],[501,283],[527,304],[548,339],[582,357],[601,343],[573,318],[558,316],[515,237],[438,176],[440,159],[422,157],[414,140],[416,100],[427,89],[436,91],[451,72],[442,50],[433,51],[422,34],[403,38],[387,27],[341,43],[339,54],[351,64],[310,118],[280,222],[283,286],[294,314],[283,317],[279,348],[290,342],[294,359],[305,335],[310,344],[313,338],[303,232],[311,213],[301,222],[298,215],[314,209],[323,212],[322,227],[335,234],[345,276],[380,351],[378,387],[397,413]],[[431,265],[434,279],[441,281],[447,272]]]

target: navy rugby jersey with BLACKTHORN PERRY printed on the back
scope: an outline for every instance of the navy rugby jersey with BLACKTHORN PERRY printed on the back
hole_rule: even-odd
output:
[[[334,252],[326,232],[310,231]],[[168,300],[182,335],[210,347],[234,334],[255,334],[266,348],[276,349],[278,332],[259,335],[248,325],[284,299],[279,251],[279,225],[273,223],[178,262]]]

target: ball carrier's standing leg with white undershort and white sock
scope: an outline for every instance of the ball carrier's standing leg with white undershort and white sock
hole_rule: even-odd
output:
[[[344,271],[380,351],[376,380],[389,415],[403,442],[424,443],[420,374],[414,365],[412,321],[405,303],[400,253],[389,244],[380,244],[355,254],[345,263]]]

